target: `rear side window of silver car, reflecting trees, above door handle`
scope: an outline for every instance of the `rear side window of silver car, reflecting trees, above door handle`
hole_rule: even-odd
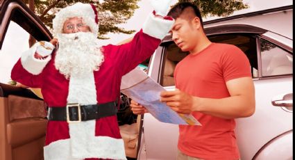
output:
[[[261,39],[262,77],[292,74],[293,55],[273,43]]]

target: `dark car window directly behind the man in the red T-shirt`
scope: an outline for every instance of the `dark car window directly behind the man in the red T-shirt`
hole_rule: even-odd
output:
[[[249,59],[251,64],[252,77],[258,77],[258,57],[256,47],[256,37],[251,34],[235,33],[235,34],[221,34],[208,36],[211,42],[220,42],[231,44],[242,49]],[[163,63],[162,79],[160,84],[162,86],[174,86],[174,69],[176,64],[181,61],[188,52],[181,51],[174,42],[167,45],[165,61]]]

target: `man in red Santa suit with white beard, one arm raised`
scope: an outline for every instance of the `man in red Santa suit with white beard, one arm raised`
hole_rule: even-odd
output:
[[[103,47],[95,7],[75,3],[53,19],[56,38],[22,54],[12,79],[41,88],[49,106],[44,159],[126,159],[115,106],[121,77],[151,56],[171,29],[169,2],[153,1],[155,11],[133,40]]]

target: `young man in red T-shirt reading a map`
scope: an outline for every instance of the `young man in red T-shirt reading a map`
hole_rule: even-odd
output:
[[[179,126],[177,159],[237,160],[234,118],[255,111],[248,58],[234,45],[210,42],[192,3],[176,4],[168,15],[175,19],[174,42],[189,55],[176,66],[176,90],[162,92],[160,100],[178,113],[192,113],[202,124]],[[134,101],[131,107],[133,113],[146,112]]]

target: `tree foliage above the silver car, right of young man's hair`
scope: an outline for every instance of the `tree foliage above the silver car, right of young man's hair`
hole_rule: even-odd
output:
[[[236,10],[248,8],[242,0],[179,0],[179,2],[190,1],[199,7],[203,17],[217,15],[226,17]]]

